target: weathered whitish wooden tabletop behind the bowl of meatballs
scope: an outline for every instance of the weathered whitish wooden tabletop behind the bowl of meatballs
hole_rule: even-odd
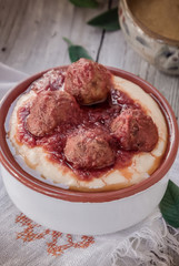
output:
[[[63,37],[83,45],[98,62],[132,72],[155,85],[179,117],[179,78],[162,74],[143,61],[121,31],[106,32],[87,21],[118,1],[98,9],[74,8],[68,0],[0,0],[0,61],[32,74],[70,63]],[[179,258],[176,258],[179,265]],[[178,263],[177,263],[178,262]]]

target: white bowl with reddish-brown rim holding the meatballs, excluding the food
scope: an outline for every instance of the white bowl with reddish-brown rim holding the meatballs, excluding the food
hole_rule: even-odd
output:
[[[67,66],[58,68],[66,70]],[[168,171],[178,150],[178,126],[167,100],[145,80],[123,70],[108,68],[149,93],[160,106],[168,125],[169,140],[159,168],[147,180],[127,188],[109,192],[63,190],[37,180],[14,160],[7,142],[7,121],[13,102],[44,72],[34,74],[13,88],[0,105],[0,161],[7,192],[28,217],[54,231],[100,235],[125,229],[146,218],[161,201],[168,184]]]

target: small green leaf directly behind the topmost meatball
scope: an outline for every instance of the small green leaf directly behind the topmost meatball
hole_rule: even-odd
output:
[[[69,57],[71,62],[78,61],[80,58],[86,58],[92,60],[87,50],[80,45],[70,45],[69,47]]]

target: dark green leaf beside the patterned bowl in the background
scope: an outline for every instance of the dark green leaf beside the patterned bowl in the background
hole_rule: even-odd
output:
[[[93,27],[100,27],[107,31],[119,30],[120,25],[118,18],[118,8],[110,9],[109,11],[89,20],[87,23]]]

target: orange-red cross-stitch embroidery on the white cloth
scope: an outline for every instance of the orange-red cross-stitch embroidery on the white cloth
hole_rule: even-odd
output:
[[[17,233],[17,239],[24,242],[32,242],[37,239],[46,239],[47,252],[52,256],[60,256],[69,248],[87,248],[95,243],[92,236],[79,236],[79,241],[74,241],[70,234],[63,234],[57,231],[44,229],[41,225],[36,224],[26,215],[20,214],[16,218],[16,223],[19,223],[23,228],[22,232]],[[62,242],[62,243],[60,243]]]

